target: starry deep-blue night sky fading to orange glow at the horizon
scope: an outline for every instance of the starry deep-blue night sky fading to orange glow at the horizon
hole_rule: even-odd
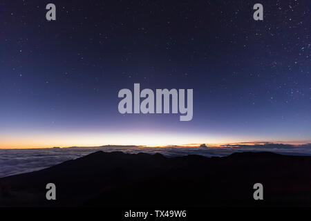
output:
[[[310,0],[1,1],[0,147],[310,142],[310,9]],[[193,119],[120,114],[117,93],[134,83],[193,88]]]

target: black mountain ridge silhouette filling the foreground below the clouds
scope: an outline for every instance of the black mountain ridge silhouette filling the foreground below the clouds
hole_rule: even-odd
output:
[[[46,200],[46,184],[57,200]],[[264,200],[253,199],[263,184]],[[164,157],[97,151],[0,179],[0,206],[311,206],[311,157]]]

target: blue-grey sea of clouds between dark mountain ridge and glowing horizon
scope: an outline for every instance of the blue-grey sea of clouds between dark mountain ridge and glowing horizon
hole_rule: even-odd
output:
[[[311,144],[299,146],[284,144],[232,145],[223,147],[200,148],[150,148],[141,146],[103,146],[88,148],[30,148],[30,149],[0,149],[0,177],[38,171],[48,166],[73,160],[95,151],[122,151],[124,153],[161,153],[167,157],[180,155],[203,155],[206,157],[222,157],[236,152],[270,151],[283,155],[309,155]]]

